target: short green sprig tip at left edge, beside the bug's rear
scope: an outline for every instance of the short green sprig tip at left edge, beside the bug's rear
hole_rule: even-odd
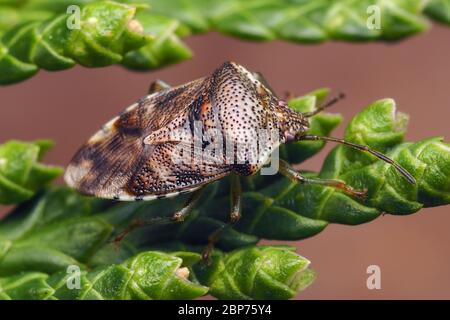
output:
[[[63,168],[39,162],[51,146],[48,140],[9,141],[0,145],[0,204],[30,199],[63,172]]]

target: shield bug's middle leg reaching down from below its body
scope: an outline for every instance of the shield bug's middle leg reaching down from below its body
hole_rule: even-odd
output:
[[[208,237],[208,244],[203,250],[202,258],[207,261],[214,249],[214,245],[219,241],[222,232],[232,226],[233,223],[241,218],[241,203],[242,203],[242,188],[241,181],[237,174],[232,174],[230,176],[230,200],[231,200],[231,212],[230,212],[230,222],[220,226],[217,230],[211,233]]]

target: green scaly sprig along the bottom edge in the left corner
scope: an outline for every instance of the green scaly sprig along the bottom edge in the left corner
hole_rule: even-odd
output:
[[[167,300],[205,295],[208,288],[189,281],[189,269],[182,263],[179,257],[148,251],[92,271],[72,265],[50,276],[25,272],[0,278],[0,299]]]

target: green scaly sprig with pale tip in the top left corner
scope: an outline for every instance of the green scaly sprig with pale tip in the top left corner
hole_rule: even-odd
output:
[[[56,71],[79,63],[103,67],[119,63],[123,55],[152,41],[134,19],[136,8],[112,1],[84,6],[79,12],[45,21],[21,23],[1,37],[0,83],[34,75],[40,68]]]

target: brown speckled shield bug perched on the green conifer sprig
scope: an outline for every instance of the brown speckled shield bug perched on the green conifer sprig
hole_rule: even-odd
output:
[[[65,173],[69,186],[116,200],[196,191],[174,214],[173,219],[180,221],[205,185],[231,174],[230,214],[236,221],[241,215],[239,176],[257,173],[280,144],[301,140],[338,142],[369,152],[415,183],[399,164],[366,146],[308,135],[308,118],[330,103],[313,112],[296,112],[259,74],[236,63],[226,62],[212,75],[175,88],[155,83],[151,90],[81,147]],[[275,135],[262,139],[261,130]],[[331,186],[356,197],[365,194],[340,180],[306,178],[282,160],[279,170],[299,183]]]

